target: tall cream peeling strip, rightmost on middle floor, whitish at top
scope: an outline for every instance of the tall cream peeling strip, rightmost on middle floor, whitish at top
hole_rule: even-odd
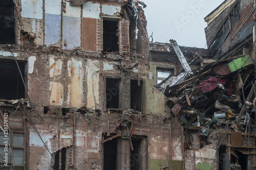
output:
[[[95,110],[99,104],[99,61],[88,60],[87,107]]]

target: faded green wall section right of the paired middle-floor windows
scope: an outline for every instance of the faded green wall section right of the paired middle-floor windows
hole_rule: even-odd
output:
[[[164,114],[164,94],[159,91],[153,92],[155,79],[146,79],[146,114]]]

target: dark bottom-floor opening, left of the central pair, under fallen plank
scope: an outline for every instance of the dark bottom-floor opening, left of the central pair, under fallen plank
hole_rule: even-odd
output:
[[[103,170],[116,169],[117,143],[116,140],[109,140],[103,144]]]

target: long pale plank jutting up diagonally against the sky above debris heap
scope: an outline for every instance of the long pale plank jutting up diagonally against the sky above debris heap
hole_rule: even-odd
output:
[[[172,44],[174,51],[177,54],[178,59],[180,60],[181,65],[183,66],[184,70],[193,74],[193,71],[191,70],[190,66],[188,65],[187,60],[184,57],[183,53],[181,52],[180,47],[177,44],[177,42],[175,40],[171,39],[170,44]]]

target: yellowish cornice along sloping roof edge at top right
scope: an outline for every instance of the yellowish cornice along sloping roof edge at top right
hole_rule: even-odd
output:
[[[215,18],[217,18],[226,8],[228,8],[230,5],[232,5],[235,2],[236,2],[236,0],[225,0],[216,9],[214,9],[207,16],[205,16],[204,21],[207,22],[207,25],[209,25],[211,21],[213,21]],[[214,15],[212,15],[212,14],[214,14]]]

